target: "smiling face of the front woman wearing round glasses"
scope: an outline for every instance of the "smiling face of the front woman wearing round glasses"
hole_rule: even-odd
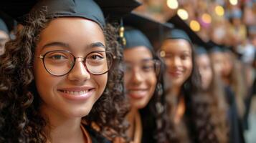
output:
[[[39,55],[54,50],[70,51],[75,57],[80,57],[75,59],[75,65],[68,74],[56,77],[44,68]],[[42,99],[42,113],[65,118],[89,114],[108,80],[108,74],[93,75],[85,68],[82,57],[92,51],[105,51],[103,30],[93,21],[58,18],[42,31],[34,56],[34,80]],[[90,55],[89,59],[97,60],[100,58],[98,55]],[[53,71],[61,71],[62,61],[66,59],[67,56],[59,52],[47,57],[48,64],[55,65]]]

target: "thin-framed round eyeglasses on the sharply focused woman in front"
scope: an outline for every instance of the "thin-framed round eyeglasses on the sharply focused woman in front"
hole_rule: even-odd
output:
[[[85,57],[75,57],[70,51],[55,50],[40,55],[44,68],[54,76],[60,77],[68,74],[75,66],[75,61],[80,59],[85,69],[94,75],[105,74],[113,64],[115,56],[108,51],[92,51]]]

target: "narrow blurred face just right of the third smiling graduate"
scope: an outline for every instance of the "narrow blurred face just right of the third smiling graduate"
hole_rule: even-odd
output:
[[[202,79],[202,88],[208,89],[212,82],[212,66],[209,56],[207,54],[201,54],[196,56],[196,64],[199,68],[199,73]]]

